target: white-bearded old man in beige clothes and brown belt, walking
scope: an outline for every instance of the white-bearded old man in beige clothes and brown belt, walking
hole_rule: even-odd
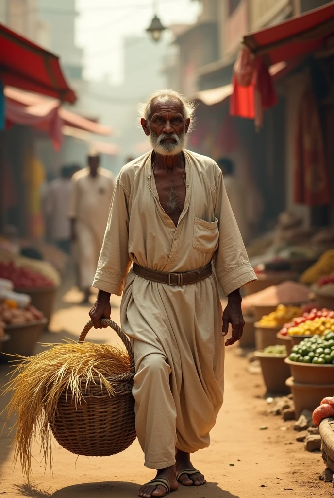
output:
[[[223,403],[223,336],[231,324],[226,345],[240,339],[240,288],[256,279],[220,168],[185,149],[193,112],[171,90],[141,108],[153,150],[119,174],[93,283],[95,328],[110,317],[110,294],[123,292],[137,436],[145,466],[157,469],[139,490],[145,498],[206,483],[190,453],[209,446]],[[224,313],[215,275],[228,296]]]

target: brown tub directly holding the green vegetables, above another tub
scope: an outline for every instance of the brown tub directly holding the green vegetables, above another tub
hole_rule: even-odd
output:
[[[289,358],[285,360],[285,363],[289,365],[295,382],[301,384],[334,384],[334,365],[291,362]]]

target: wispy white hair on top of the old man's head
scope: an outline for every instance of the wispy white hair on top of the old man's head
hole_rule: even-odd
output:
[[[184,95],[180,94],[179,92],[176,92],[176,90],[170,90],[168,88],[164,88],[163,90],[157,90],[156,92],[153,92],[145,103],[138,105],[139,120],[141,118],[144,118],[147,121],[150,119],[152,102],[154,100],[159,100],[160,102],[166,102],[167,100],[179,101],[182,104],[183,118],[185,120],[190,118],[190,125],[188,132],[192,131],[195,124],[194,114],[196,110],[196,104],[194,102],[189,101],[186,97],[184,97]]]

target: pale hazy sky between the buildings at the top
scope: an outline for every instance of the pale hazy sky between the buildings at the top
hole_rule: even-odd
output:
[[[191,0],[156,3],[158,16],[166,26],[193,23],[200,10],[198,2]],[[107,77],[118,83],[122,78],[123,38],[146,35],[153,17],[153,0],[77,0],[77,10],[76,42],[84,50],[85,77]]]

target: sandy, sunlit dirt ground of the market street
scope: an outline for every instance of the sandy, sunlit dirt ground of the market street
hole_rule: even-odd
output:
[[[79,297],[75,291],[65,294],[62,309],[52,320],[52,332],[44,334],[43,342],[59,342],[64,336],[78,338],[88,316],[88,308],[77,304]],[[118,322],[117,298],[113,305],[112,319]],[[116,342],[115,336],[110,330],[93,330],[88,337]],[[211,446],[193,457],[208,484],[200,488],[180,486],[175,498],[334,496],[332,485],[318,479],[324,470],[321,455],[305,452],[303,444],[296,442],[292,422],[265,415],[261,377],[248,373],[247,361],[236,353],[236,348],[227,351],[225,402],[212,431]],[[1,384],[8,371],[8,367],[0,366]],[[0,400],[1,409],[6,401]],[[2,415],[1,426],[3,420]],[[263,426],[267,429],[260,430]],[[44,473],[43,464],[37,460],[33,483],[28,486],[19,465],[15,469],[11,465],[11,440],[5,431],[0,441],[0,494],[6,497],[130,498],[136,496],[141,484],[154,477],[143,467],[138,441],[119,455],[90,459],[77,459],[55,443],[53,476],[49,471]],[[33,453],[38,459],[38,445]]]

